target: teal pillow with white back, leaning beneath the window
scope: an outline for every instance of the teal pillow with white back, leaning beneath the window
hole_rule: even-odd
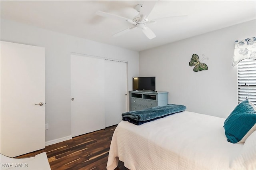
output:
[[[224,121],[228,142],[243,144],[256,129],[256,111],[248,100],[242,101]]]

